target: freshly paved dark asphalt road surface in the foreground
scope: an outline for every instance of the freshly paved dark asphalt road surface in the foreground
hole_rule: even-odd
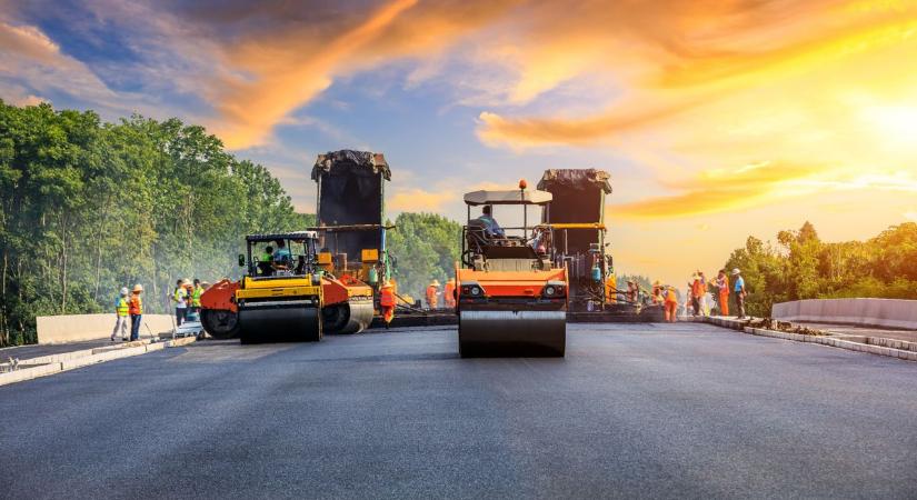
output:
[[[915,498],[917,363],[694,323],[201,342],[0,387],[2,498]]]

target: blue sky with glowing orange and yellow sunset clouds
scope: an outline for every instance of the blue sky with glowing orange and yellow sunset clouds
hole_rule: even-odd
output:
[[[917,0],[0,0],[0,98],[200,123],[315,211],[383,152],[389,216],[611,174],[619,273],[715,272],[811,221],[917,221]]]

